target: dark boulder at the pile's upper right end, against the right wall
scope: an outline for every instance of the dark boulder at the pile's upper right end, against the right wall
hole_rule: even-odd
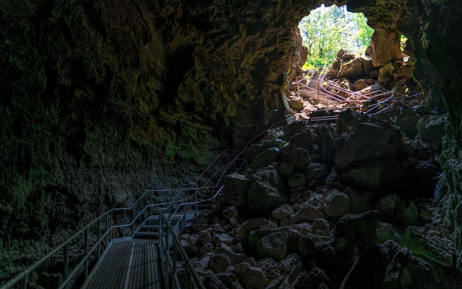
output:
[[[417,123],[417,131],[422,146],[426,149],[441,150],[444,133],[445,117],[423,116]]]

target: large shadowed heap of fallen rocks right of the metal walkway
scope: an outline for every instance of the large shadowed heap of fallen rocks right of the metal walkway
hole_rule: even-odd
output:
[[[445,121],[419,105],[294,122],[181,244],[207,288],[462,288],[433,205]]]

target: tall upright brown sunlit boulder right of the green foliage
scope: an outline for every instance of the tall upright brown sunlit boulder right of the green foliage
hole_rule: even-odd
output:
[[[371,38],[371,57],[375,67],[384,66],[402,57],[401,34],[391,28],[374,30]]]

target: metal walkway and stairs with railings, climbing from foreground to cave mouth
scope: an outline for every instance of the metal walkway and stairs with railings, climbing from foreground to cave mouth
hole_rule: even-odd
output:
[[[210,208],[215,203],[224,188],[227,174],[242,173],[247,169],[250,145],[272,139],[290,125],[286,123],[294,116],[308,114],[309,118],[295,121],[304,121],[309,125],[335,124],[342,110],[367,108],[366,114],[373,116],[399,106],[405,97],[391,95],[370,106],[299,111],[286,115],[248,141],[243,150],[220,153],[190,187],[148,190],[131,207],[110,209],[3,283],[0,289],[27,288],[30,274],[42,265],[51,266],[51,262],[47,262],[50,258],[59,258],[62,262],[58,262],[62,264],[59,289],[75,288],[79,284],[88,289],[189,289],[192,283],[196,288],[205,288],[177,236],[191,226],[201,209]],[[407,105],[412,103],[414,101]],[[317,117],[319,113],[324,116]],[[78,259],[69,259],[70,247],[73,252],[81,252]],[[178,275],[177,260],[182,260],[185,276]],[[70,264],[72,268],[69,268]],[[53,268],[56,271],[56,265]]]

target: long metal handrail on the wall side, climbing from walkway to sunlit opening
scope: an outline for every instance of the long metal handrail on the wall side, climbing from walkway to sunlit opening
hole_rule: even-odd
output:
[[[264,130],[263,132],[261,132],[260,134],[256,135],[254,138],[252,138],[250,141],[248,141],[246,143],[246,146],[242,151],[238,152],[238,151],[226,150],[226,151],[222,152],[221,154],[219,154],[219,156],[217,158],[215,158],[215,160],[213,160],[213,162],[212,162],[212,164],[213,164],[213,163],[216,163],[217,160],[218,160],[219,168],[213,173],[212,177],[210,177],[207,180],[206,184],[211,182],[213,180],[213,178],[215,176],[217,176],[217,174],[218,174],[218,180],[216,180],[215,184],[219,184],[220,181],[223,179],[223,177],[226,175],[228,168],[232,164],[234,164],[234,166],[236,167],[236,161],[237,160],[242,160],[242,163],[239,165],[239,167],[237,167],[237,169],[247,168],[247,166],[248,166],[248,148],[249,148],[249,144],[255,142],[255,140],[257,140],[257,139],[258,139],[258,141],[263,141],[263,140],[268,139],[268,138],[272,139],[274,134],[282,131],[283,129],[285,129],[289,125],[289,124],[287,124],[287,125],[285,125],[283,127],[280,127],[280,123],[286,121],[286,119],[289,118],[289,117],[292,117],[294,115],[301,114],[301,113],[309,113],[309,118],[308,119],[307,118],[302,118],[302,119],[298,119],[297,121],[307,121],[308,120],[310,122],[310,125],[312,125],[312,123],[325,122],[325,121],[332,122],[332,121],[336,121],[338,119],[338,115],[325,116],[325,117],[312,117],[313,113],[319,113],[319,112],[322,112],[322,111],[326,111],[326,112],[327,111],[332,111],[332,112],[334,112],[334,111],[341,111],[341,110],[345,110],[345,109],[362,109],[362,108],[366,108],[367,109],[366,114],[374,115],[374,114],[380,113],[382,111],[389,110],[395,103],[398,104],[398,106],[399,106],[400,103],[407,102],[407,104],[409,105],[409,104],[412,104],[413,102],[419,103],[419,100],[421,99],[421,98],[418,97],[418,98],[416,98],[414,100],[409,100],[409,101],[401,100],[401,99],[404,99],[406,97],[407,97],[406,95],[401,95],[401,96],[398,96],[398,97],[396,97],[394,95],[391,95],[391,96],[389,96],[389,98],[386,98],[385,100],[377,102],[377,104],[370,105],[370,106],[355,106],[355,107],[348,107],[348,108],[335,108],[335,109],[317,110],[317,111],[298,111],[298,112],[294,112],[294,113],[286,116],[285,118],[283,118],[279,122],[273,124],[270,128],[268,128],[268,129]],[[380,110],[377,111],[377,112],[372,113],[373,111],[375,111],[377,109],[380,109]],[[271,132],[268,133],[269,131],[271,131]],[[264,137],[262,137],[262,135],[264,135],[264,134],[266,134],[266,135]],[[229,161],[228,163],[225,163],[224,166],[221,166],[220,157],[223,154],[225,154],[226,152],[233,152],[233,157],[234,158],[231,161]],[[242,158],[242,159],[240,159],[240,158]],[[201,174],[201,176],[198,178],[198,180],[196,180],[196,182],[193,184],[193,186],[195,184],[198,184],[199,180],[202,179],[204,177],[205,173],[212,167],[212,164],[207,167],[206,171]],[[201,194],[201,197],[198,198],[198,193],[199,192],[203,192],[203,190],[210,190],[210,189],[213,190],[211,197],[204,198],[203,195]],[[217,190],[217,191],[215,192],[215,190]],[[172,220],[173,216],[178,212],[178,210],[180,208],[184,209],[184,214],[185,214],[184,220],[186,220],[186,211],[187,211],[188,206],[195,205],[195,211],[197,213],[197,211],[198,211],[197,206],[199,204],[204,203],[204,202],[208,202],[208,201],[213,201],[214,202],[215,198],[219,195],[219,193],[222,190],[223,190],[223,186],[218,186],[218,185],[203,186],[203,187],[201,186],[199,188],[193,188],[191,186],[191,187],[179,188],[179,189],[147,190],[136,200],[136,202],[131,207],[129,207],[129,208],[110,209],[107,212],[105,212],[104,214],[98,216],[95,220],[88,223],[84,228],[80,229],[77,233],[73,234],[72,237],[65,240],[60,245],[56,246],[53,250],[48,252],[45,256],[43,256],[42,258],[40,258],[39,260],[37,260],[33,264],[30,264],[28,267],[26,267],[24,270],[20,271],[18,274],[16,274],[10,280],[6,281],[6,283],[4,283],[4,284],[2,284],[0,286],[0,289],[12,288],[12,286],[14,286],[14,285],[16,285],[16,284],[18,284],[20,282],[21,282],[21,287],[26,288],[28,277],[29,277],[30,273],[32,271],[34,271],[36,268],[38,268],[40,265],[42,265],[45,261],[47,261],[51,257],[55,256],[55,254],[57,254],[58,252],[61,252],[61,250],[63,250],[63,269],[62,269],[63,270],[63,280],[61,281],[58,288],[59,289],[67,288],[67,285],[70,283],[71,280],[73,280],[73,277],[76,277],[76,274],[79,272],[79,270],[81,270],[82,267],[84,267],[83,273],[84,273],[85,279],[88,277],[89,260],[91,259],[90,258],[91,255],[93,253],[95,253],[95,254],[97,253],[96,256],[92,259],[92,261],[97,262],[99,260],[99,258],[101,257],[101,249],[102,248],[105,249],[105,248],[107,248],[109,246],[109,243],[113,240],[113,235],[114,234],[116,234],[116,237],[121,237],[121,238],[125,238],[127,236],[133,236],[135,234],[135,232],[136,232],[136,224],[137,224],[136,222],[140,219],[140,217],[144,216],[143,214],[146,215],[145,212],[146,212],[147,209],[150,209],[150,215],[153,215],[153,213],[154,213],[153,210],[157,209],[158,212],[159,212],[159,215],[162,216],[161,218],[164,218],[163,220],[165,221],[168,230],[171,231],[170,221]],[[167,193],[168,192],[174,192],[174,191],[178,191],[175,194],[175,197],[173,197],[170,201],[167,201],[166,200]],[[191,196],[188,196],[187,191],[194,191],[194,194],[192,194]],[[181,199],[177,199],[178,196],[180,196],[182,192],[184,192],[184,196]],[[162,196],[160,196],[160,197],[163,197],[163,202],[162,203],[154,203],[154,193],[161,193]],[[159,196],[156,196],[156,197],[159,197]],[[191,202],[192,198],[194,198],[193,202]],[[173,207],[174,204],[177,204],[177,207],[176,207],[174,213],[171,214],[171,208]],[[143,205],[144,205],[144,207],[143,207]],[[142,208],[138,213],[137,213],[137,207]],[[161,208],[159,208],[159,207],[161,207]],[[167,209],[169,210],[169,220],[168,221],[166,220],[166,217],[162,214],[162,211],[166,211]],[[123,217],[122,217],[122,213],[123,213]],[[130,222],[127,221],[128,213],[132,214]],[[114,215],[117,215],[117,214],[119,215],[119,217],[115,218]],[[123,224],[115,225],[115,219],[119,220],[119,221],[123,220]],[[101,227],[102,226],[102,220],[103,220],[103,232],[102,232],[102,227]],[[131,232],[132,234],[127,233],[127,228],[132,229],[132,232]],[[114,230],[116,230],[116,232],[114,232]],[[121,231],[119,231],[119,230],[121,230]],[[91,247],[90,247],[90,238],[89,238],[90,234],[97,236],[96,242],[94,242]],[[69,246],[70,246],[71,242],[73,242],[74,240],[77,240],[77,238],[79,236],[81,236],[84,239],[84,247],[79,248],[79,250],[83,250],[84,255],[83,255],[82,258],[79,259],[78,263],[74,266],[72,271],[69,272]],[[167,236],[167,238],[168,238],[168,236]],[[169,242],[166,242],[164,244],[169,244]],[[178,243],[175,243],[175,244],[176,244],[175,245],[176,249],[179,249]],[[176,251],[174,250],[174,252],[176,252]],[[169,258],[169,257],[165,257],[165,258]],[[185,264],[186,263],[188,263],[188,262],[185,262]],[[168,265],[170,265],[170,263]],[[173,267],[171,267],[171,268],[173,268]],[[190,270],[190,269],[188,269],[188,270]]]

